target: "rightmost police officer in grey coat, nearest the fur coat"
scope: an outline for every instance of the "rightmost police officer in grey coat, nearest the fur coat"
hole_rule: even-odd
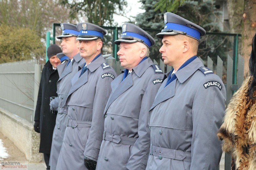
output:
[[[149,111],[151,147],[147,169],[212,169],[221,158],[216,133],[221,125],[226,89],[221,79],[197,58],[206,31],[173,13],[164,14],[156,36],[166,73]]]

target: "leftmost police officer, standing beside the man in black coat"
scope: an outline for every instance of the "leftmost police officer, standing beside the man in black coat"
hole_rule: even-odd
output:
[[[58,110],[56,125],[53,131],[53,141],[50,153],[51,170],[56,169],[60,148],[64,132],[66,129],[67,106],[66,99],[68,92],[72,86],[71,78],[78,72],[78,66],[84,63],[79,54],[79,42],[76,40],[79,31],[76,25],[69,23],[61,23],[62,35],[58,39],[62,39],[62,52],[69,57],[69,61],[60,64],[57,69],[59,72],[59,80],[57,81],[57,94],[54,100],[50,102],[51,110]]]

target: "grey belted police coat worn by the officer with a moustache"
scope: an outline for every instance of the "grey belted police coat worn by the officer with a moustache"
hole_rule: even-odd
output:
[[[87,169],[84,155],[97,161],[104,130],[103,112],[116,72],[101,56],[72,79],[67,105],[67,127],[56,169]]]

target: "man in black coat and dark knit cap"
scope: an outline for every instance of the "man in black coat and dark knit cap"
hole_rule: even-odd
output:
[[[57,81],[59,79],[57,65],[60,64],[60,60],[56,54],[60,52],[62,52],[62,50],[56,44],[50,45],[47,49],[47,57],[49,60],[44,65],[42,71],[35,109],[34,129],[36,132],[40,133],[39,152],[44,153],[44,161],[47,169],[50,169],[50,151],[53,129],[56,122],[56,114],[50,112],[49,103],[51,96],[57,96]]]

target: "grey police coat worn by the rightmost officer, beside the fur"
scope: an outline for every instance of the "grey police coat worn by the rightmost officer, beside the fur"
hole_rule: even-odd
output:
[[[216,133],[224,116],[226,89],[217,75],[202,66],[196,58],[165,88],[170,72],[164,76],[149,111],[147,170],[218,168],[222,152]]]

